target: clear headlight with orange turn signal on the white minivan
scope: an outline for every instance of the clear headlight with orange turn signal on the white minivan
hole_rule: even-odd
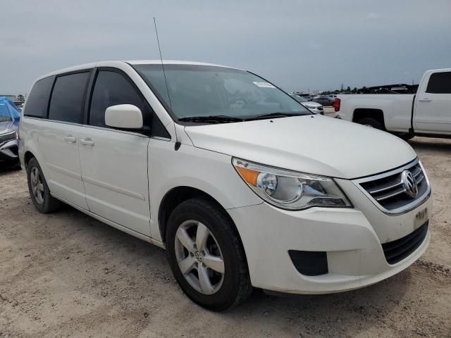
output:
[[[264,201],[288,210],[312,206],[350,207],[350,201],[330,177],[297,173],[233,158],[241,178]]]

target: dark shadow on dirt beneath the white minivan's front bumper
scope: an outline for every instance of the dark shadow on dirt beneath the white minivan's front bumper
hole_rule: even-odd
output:
[[[270,320],[300,337],[301,332],[313,337],[354,337],[358,332],[385,325],[385,317],[400,306],[408,292],[410,279],[407,270],[363,289],[324,295],[271,296],[256,290],[247,303],[226,315],[247,317],[256,325],[262,319]]]

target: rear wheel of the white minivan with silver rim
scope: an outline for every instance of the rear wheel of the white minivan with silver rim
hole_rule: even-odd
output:
[[[51,213],[61,205],[60,201],[51,196],[49,186],[36,158],[30,159],[27,164],[27,181],[33,204],[40,213]]]

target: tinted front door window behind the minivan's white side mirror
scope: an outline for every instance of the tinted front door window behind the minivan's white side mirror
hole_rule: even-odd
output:
[[[136,89],[121,74],[109,70],[101,70],[92,92],[89,124],[99,127],[105,125],[105,111],[109,106],[117,104],[132,104],[140,108],[143,113],[144,125],[150,125],[149,108],[147,102],[137,93]]]

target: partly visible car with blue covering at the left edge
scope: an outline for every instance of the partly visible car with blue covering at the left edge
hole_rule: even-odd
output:
[[[0,161],[6,165],[19,165],[19,122],[20,112],[13,101],[0,97]]]

